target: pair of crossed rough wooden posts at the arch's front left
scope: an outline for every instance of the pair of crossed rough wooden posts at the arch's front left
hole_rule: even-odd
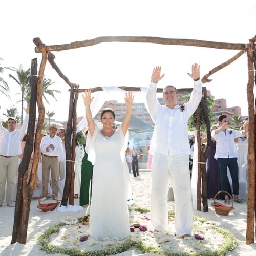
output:
[[[11,244],[16,242],[26,244],[26,241],[27,241],[29,210],[30,210],[30,204],[31,204],[31,199],[33,195],[34,185],[36,182],[37,167],[39,162],[38,141],[41,137],[41,128],[42,128],[42,123],[44,121],[44,120],[40,121],[38,119],[35,141],[34,141],[36,102],[39,108],[40,102],[42,102],[42,77],[44,74],[46,60],[47,60],[46,51],[44,48],[42,52],[42,62],[41,62],[40,71],[39,71],[39,79],[37,77],[36,59],[33,59],[31,63],[31,77],[30,77],[31,98],[30,98],[30,110],[29,110],[29,124],[27,129],[28,131],[27,141],[24,148],[23,159],[19,166],[18,187],[17,187],[17,196],[16,196]],[[39,113],[40,113],[40,109],[39,109]],[[42,113],[44,113],[44,111],[42,111]],[[35,143],[35,146],[34,146],[34,143]],[[28,166],[29,166],[33,149],[35,150],[34,160],[33,160],[32,169],[31,169],[31,176],[29,181],[27,181]]]

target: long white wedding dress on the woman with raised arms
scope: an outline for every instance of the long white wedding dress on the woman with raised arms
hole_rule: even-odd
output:
[[[104,137],[96,126],[93,137],[88,136],[87,146],[89,155],[95,153],[90,207],[93,237],[125,239],[130,234],[130,225],[121,127],[111,137]]]

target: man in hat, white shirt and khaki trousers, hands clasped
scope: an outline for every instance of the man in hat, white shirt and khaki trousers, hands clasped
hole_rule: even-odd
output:
[[[55,123],[49,126],[49,135],[42,137],[40,151],[42,152],[42,193],[48,193],[48,182],[51,168],[52,193],[57,197],[59,191],[59,161],[58,156],[62,153],[62,141],[56,135],[58,127]],[[41,201],[47,197],[42,197]]]

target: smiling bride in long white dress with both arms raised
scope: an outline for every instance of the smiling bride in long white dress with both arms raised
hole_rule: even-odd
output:
[[[94,164],[90,229],[95,239],[115,237],[122,240],[130,234],[125,178],[129,175],[124,152],[134,96],[131,92],[125,93],[126,112],[116,130],[113,129],[115,113],[110,108],[101,111],[103,128],[99,130],[95,125],[90,109],[93,98],[90,90],[83,95],[89,127],[86,148],[88,160]]]

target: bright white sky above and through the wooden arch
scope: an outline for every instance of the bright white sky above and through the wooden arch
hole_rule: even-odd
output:
[[[178,2],[178,3],[177,3]],[[157,36],[217,42],[247,43],[256,33],[256,3],[241,1],[66,1],[44,2],[2,1],[0,57],[2,66],[30,68],[34,37],[46,45],[66,44],[99,36]],[[98,86],[147,86],[154,66],[165,73],[159,87],[174,84],[177,88],[192,86],[191,64],[201,65],[201,74],[233,57],[238,51],[185,46],[164,46],[135,43],[103,43],[81,49],[53,52],[55,62],[71,82],[80,88]],[[8,75],[7,73],[5,75]],[[5,76],[2,75],[2,76]],[[54,118],[68,117],[69,87],[47,63],[46,78],[56,83],[52,89],[62,91],[58,102],[50,100],[46,111],[55,111]],[[247,57],[240,59],[210,77],[204,84],[215,98],[226,98],[227,106],[239,105],[247,115]],[[19,87],[9,80],[12,102],[3,99],[1,112],[16,104]],[[115,99],[115,98],[113,98]],[[142,101],[137,98],[136,102]],[[19,106],[19,104],[18,104]],[[78,116],[84,108],[78,99]]]

